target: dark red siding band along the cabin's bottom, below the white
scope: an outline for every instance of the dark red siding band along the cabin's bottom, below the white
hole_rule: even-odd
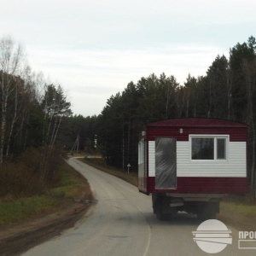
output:
[[[148,177],[148,194],[244,194],[248,189],[247,177],[177,177],[177,189],[154,189],[154,177]]]

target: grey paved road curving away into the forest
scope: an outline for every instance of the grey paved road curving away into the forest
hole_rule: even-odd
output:
[[[68,163],[87,178],[97,203],[75,228],[24,255],[210,255],[193,241],[192,231],[201,224],[195,216],[180,213],[175,220],[160,222],[152,212],[151,197],[136,187],[79,160]],[[239,250],[238,230],[228,228],[232,245],[216,255],[255,255],[256,250]]]

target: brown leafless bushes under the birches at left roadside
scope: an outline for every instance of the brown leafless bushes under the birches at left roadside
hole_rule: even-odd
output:
[[[41,195],[52,188],[58,177],[57,169],[61,154],[54,148],[40,151],[29,148],[18,159],[7,161],[1,166],[0,197]]]

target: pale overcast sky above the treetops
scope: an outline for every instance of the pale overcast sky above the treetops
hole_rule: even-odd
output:
[[[0,0],[0,37],[26,48],[33,71],[61,84],[73,113],[151,73],[205,75],[217,55],[256,37],[255,0]],[[1,34],[2,33],[2,34]]]

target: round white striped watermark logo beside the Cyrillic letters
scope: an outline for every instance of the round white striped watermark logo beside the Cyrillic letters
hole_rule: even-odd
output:
[[[205,253],[220,253],[232,243],[231,230],[217,219],[208,219],[193,231],[193,240]]]

